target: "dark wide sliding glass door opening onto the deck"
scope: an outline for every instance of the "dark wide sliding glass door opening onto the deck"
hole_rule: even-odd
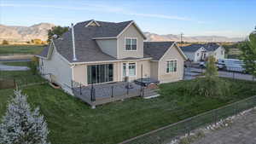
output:
[[[87,66],[88,84],[113,81],[113,64]]]

